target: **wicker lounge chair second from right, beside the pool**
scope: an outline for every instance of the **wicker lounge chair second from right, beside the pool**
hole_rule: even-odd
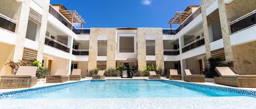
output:
[[[184,81],[188,82],[205,82],[204,75],[195,75],[191,73],[190,69],[185,69]]]

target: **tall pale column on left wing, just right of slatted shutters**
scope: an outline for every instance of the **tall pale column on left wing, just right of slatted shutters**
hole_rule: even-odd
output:
[[[43,15],[41,20],[41,27],[39,31],[38,50],[37,50],[37,60],[40,62],[43,61],[43,55],[44,55],[44,42],[45,42],[45,33],[46,33],[47,22],[48,22],[49,5],[50,5],[50,0],[44,0],[44,9],[43,9]]]

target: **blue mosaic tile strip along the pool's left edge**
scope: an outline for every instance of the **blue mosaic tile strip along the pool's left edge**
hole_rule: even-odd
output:
[[[25,94],[37,93],[37,92],[41,92],[41,91],[48,91],[48,90],[52,90],[52,89],[56,89],[56,88],[75,86],[75,85],[81,84],[81,82],[84,82],[84,83],[90,82],[90,80],[70,82],[70,83],[66,83],[66,84],[59,84],[59,85],[52,85],[52,86],[45,86],[45,87],[22,89],[19,91],[3,92],[3,93],[0,93],[0,100],[19,97],[19,96],[25,95]]]

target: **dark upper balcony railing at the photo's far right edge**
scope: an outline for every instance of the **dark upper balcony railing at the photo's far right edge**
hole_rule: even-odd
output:
[[[236,33],[238,31],[244,30],[246,28],[252,27],[256,24],[256,10],[249,12],[248,14],[237,18],[235,21],[230,22],[231,33]]]

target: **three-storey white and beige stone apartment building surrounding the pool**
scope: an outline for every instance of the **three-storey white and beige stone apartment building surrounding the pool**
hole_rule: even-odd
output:
[[[209,57],[234,61],[239,74],[255,74],[255,7],[253,0],[202,0],[177,10],[168,29],[76,28],[85,23],[78,12],[50,0],[2,0],[0,74],[10,73],[10,60],[37,59],[51,73],[80,68],[83,78],[118,63],[139,70],[156,65],[169,77],[169,69],[200,74]],[[175,23],[180,26],[172,28]]]

